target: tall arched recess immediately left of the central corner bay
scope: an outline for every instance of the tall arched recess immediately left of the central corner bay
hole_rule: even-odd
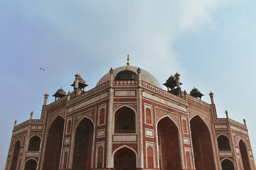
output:
[[[74,170],[91,168],[93,132],[92,121],[88,118],[83,118],[75,130]]]

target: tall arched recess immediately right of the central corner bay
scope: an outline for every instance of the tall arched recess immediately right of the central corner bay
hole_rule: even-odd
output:
[[[178,128],[171,118],[163,118],[157,124],[160,169],[181,169]],[[171,160],[171,161],[170,161]]]

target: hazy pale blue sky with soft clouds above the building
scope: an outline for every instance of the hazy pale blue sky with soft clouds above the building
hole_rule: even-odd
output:
[[[40,118],[43,94],[68,92],[79,72],[92,89],[110,67],[146,69],[162,84],[181,74],[219,117],[247,128],[256,152],[256,1],[0,1],[0,169],[14,120]],[[46,69],[43,72],[39,68]],[[255,154],[256,155],[256,154]]]

